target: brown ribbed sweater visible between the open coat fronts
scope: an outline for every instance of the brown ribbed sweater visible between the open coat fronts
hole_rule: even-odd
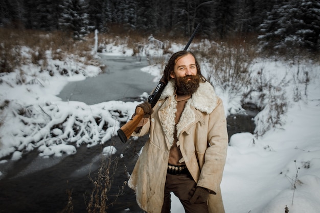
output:
[[[175,99],[177,101],[177,111],[175,113],[175,124],[176,125],[179,122],[181,113],[184,110],[185,105],[186,105],[187,101],[190,99],[190,97],[191,97],[191,95],[182,95],[182,96],[176,95],[175,96]],[[185,165],[186,164],[185,162],[181,162],[181,163],[179,162],[179,160],[182,158],[182,154],[181,154],[179,145],[177,145],[177,140],[178,140],[177,130],[175,129],[174,141],[173,141],[173,144],[170,149],[168,163],[172,164],[172,165],[178,165],[178,166]]]

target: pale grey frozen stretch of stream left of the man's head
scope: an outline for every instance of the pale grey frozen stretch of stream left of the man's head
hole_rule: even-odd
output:
[[[128,100],[139,97],[143,92],[150,93],[158,81],[142,72],[148,66],[147,60],[141,62],[135,57],[105,56],[106,72],[97,77],[68,83],[60,92],[63,101],[81,101],[88,105],[112,100]]]

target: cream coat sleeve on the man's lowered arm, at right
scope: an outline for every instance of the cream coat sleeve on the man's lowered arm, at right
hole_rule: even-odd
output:
[[[209,116],[208,144],[197,186],[217,192],[222,180],[228,146],[226,117],[221,99],[218,99],[217,107]]]

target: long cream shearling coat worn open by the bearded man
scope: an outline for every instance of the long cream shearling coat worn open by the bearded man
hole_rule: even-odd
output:
[[[161,212],[169,150],[175,130],[174,81],[169,81],[154,106],[147,124],[133,136],[150,133],[149,140],[128,181],[139,206],[148,213]],[[209,212],[224,213],[220,183],[228,146],[222,101],[209,82],[200,83],[176,125],[177,145],[197,186],[214,191],[208,198]]]

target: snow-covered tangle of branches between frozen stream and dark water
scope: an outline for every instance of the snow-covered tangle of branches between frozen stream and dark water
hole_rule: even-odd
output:
[[[117,105],[123,105],[120,111]],[[11,102],[3,111],[2,122],[14,124],[14,129],[2,126],[0,158],[14,151],[29,152],[37,149],[40,155],[74,154],[75,147],[104,144],[117,135],[119,122],[126,122],[126,109],[132,103],[108,102],[88,106],[81,102],[45,103],[21,106]],[[132,107],[133,108],[133,107]]]

